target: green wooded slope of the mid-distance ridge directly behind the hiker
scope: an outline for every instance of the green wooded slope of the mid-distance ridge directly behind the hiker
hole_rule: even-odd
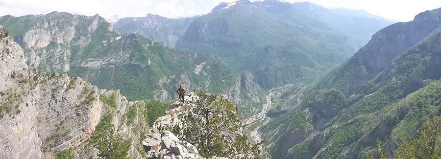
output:
[[[123,39],[130,39],[131,43],[121,44]],[[182,74],[185,74],[192,85],[188,90],[229,89],[235,85],[239,75],[222,63],[216,57],[189,54],[164,47],[159,42],[153,42],[137,35],[126,35],[121,40],[114,41],[103,50],[117,52],[120,47],[130,46],[133,54],[128,57],[128,63],[118,64],[118,67],[87,68],[72,66],[68,74],[84,77],[100,89],[118,89],[128,100],[159,99],[158,93],[164,90],[173,98],[176,97],[176,87],[181,83]],[[104,53],[104,52],[103,52]],[[101,54],[99,54],[102,56]],[[103,56],[101,58],[108,58]],[[201,58],[207,60],[201,73],[196,74],[195,61]],[[151,61],[148,65],[148,61]],[[202,73],[202,72],[206,72]],[[208,75],[210,82],[207,84]],[[163,81],[163,82],[161,82]],[[170,82],[165,82],[170,81]],[[202,88],[199,88],[202,86]]]

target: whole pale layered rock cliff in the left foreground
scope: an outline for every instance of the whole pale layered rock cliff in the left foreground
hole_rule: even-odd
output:
[[[0,25],[0,158],[54,158],[54,154],[86,144],[103,114],[113,114],[112,123],[125,139],[138,141],[147,126],[144,115],[127,125],[126,114],[134,102],[118,92],[98,90],[78,77],[46,73],[26,65],[24,52]],[[100,100],[114,94],[115,107]],[[113,113],[112,113],[113,112]],[[116,113],[118,112],[118,113]],[[139,131],[133,132],[131,129]],[[140,153],[132,145],[130,157]],[[86,154],[82,153],[87,150]],[[79,157],[93,155],[94,148],[77,148]]]

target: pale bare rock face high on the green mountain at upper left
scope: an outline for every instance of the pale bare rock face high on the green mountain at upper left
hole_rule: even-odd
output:
[[[87,17],[65,12],[52,12],[36,22],[24,35],[25,58],[31,66],[49,71],[69,71],[74,45],[86,46],[92,34],[106,21],[98,15]],[[109,25],[110,32],[114,31]],[[102,42],[110,43],[113,39]]]

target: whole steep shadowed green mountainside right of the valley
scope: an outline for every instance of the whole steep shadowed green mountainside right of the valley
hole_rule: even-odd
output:
[[[314,84],[299,107],[270,120],[272,158],[367,158],[379,138],[388,157],[440,114],[441,9],[381,29]]]

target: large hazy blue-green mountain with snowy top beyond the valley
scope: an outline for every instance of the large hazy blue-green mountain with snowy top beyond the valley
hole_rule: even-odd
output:
[[[271,89],[318,79],[389,24],[309,2],[239,0],[196,17],[175,48],[217,55]]]

